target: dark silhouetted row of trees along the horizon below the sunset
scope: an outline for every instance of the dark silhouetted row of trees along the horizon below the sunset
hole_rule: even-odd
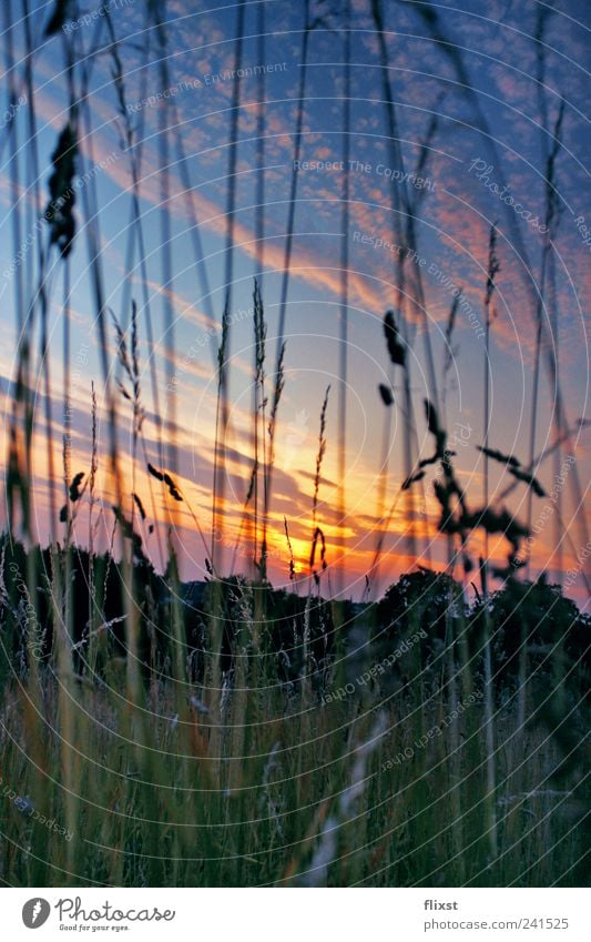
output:
[[[79,675],[102,676],[110,659],[126,655],[125,584],[109,555],[71,550],[71,580],[65,594],[73,636],[69,638],[72,667]],[[26,586],[29,554],[21,544],[4,543],[1,601],[4,611],[2,651],[4,677],[26,671],[32,655],[49,664],[54,650],[57,620],[65,612],[52,596],[53,567],[65,571],[65,553],[52,556],[39,547],[30,551],[41,574],[37,595]],[[297,681],[304,673],[322,691],[329,669],[344,655],[345,676],[356,677],[367,664],[383,664],[370,672],[371,683],[395,690],[409,672],[436,675],[451,657],[468,658],[470,670],[482,668],[487,620],[491,626],[492,675],[496,689],[510,691],[518,682],[523,650],[528,678],[570,678],[583,689],[591,676],[591,617],[563,596],[560,586],[542,578],[512,581],[488,600],[475,590],[467,599],[458,583],[445,574],[419,569],[403,575],[374,604],[335,604],[319,594],[297,595],[253,583],[241,576],[225,581],[175,583],[159,575],[145,557],[133,568],[133,601],[139,612],[139,656],[144,675],[171,676],[175,640],[166,626],[171,610],[181,612],[186,644],[187,677],[203,681],[204,662],[222,626],[221,668],[230,680],[235,656],[264,655],[278,681]],[[213,612],[218,612],[215,617]],[[335,617],[338,612],[338,617]],[[213,621],[212,621],[213,619]],[[447,659],[447,660],[446,660]],[[306,664],[308,667],[306,667]]]

